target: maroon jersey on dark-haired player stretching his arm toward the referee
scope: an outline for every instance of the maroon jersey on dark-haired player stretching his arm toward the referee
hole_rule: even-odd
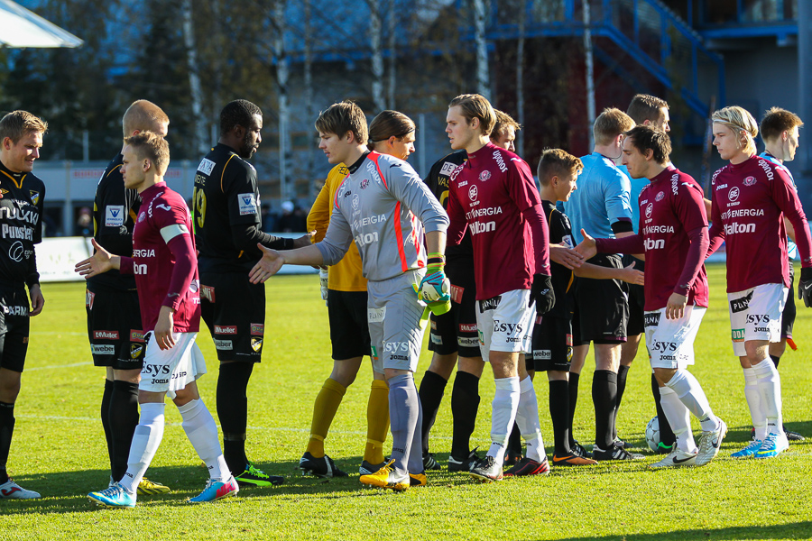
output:
[[[707,216],[697,181],[669,166],[642,188],[638,234],[597,239],[598,252],[646,254],[646,311],[669,304],[672,293],[707,307]]]

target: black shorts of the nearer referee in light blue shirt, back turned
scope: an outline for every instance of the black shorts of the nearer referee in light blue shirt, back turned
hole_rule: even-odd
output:
[[[599,253],[587,262],[601,267],[623,268],[621,257],[614,253]],[[620,344],[626,341],[629,301],[624,282],[579,278],[575,295],[581,344]]]

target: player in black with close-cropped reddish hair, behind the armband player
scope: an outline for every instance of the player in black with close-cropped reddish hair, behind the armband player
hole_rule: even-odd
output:
[[[124,137],[142,132],[165,137],[169,117],[145,99],[130,105],[122,118]],[[93,238],[107,252],[133,255],[133,227],[141,205],[134,189],[127,189],[121,175],[124,146],[110,161],[96,188],[93,202]],[[134,275],[109,271],[88,279],[85,308],[88,341],[96,366],[106,367],[101,418],[110,456],[110,483],[127,470],[127,455],[138,425],[138,382],[143,368],[144,339],[141,309]],[[168,492],[169,487],[143,478],[139,494]]]

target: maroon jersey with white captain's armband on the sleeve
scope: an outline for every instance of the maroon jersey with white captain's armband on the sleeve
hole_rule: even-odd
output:
[[[121,272],[134,274],[143,331],[155,329],[161,307],[171,307],[174,332],[200,329],[198,258],[189,207],[159,182],[141,192],[133,231],[133,257],[121,258]]]

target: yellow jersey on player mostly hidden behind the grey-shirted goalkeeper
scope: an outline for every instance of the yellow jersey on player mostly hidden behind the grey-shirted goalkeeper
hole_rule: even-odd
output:
[[[313,243],[318,243],[327,233],[330,224],[330,215],[333,214],[333,201],[336,190],[346,179],[349,170],[346,165],[339,163],[330,170],[324,187],[318,192],[318,197],[310,207],[308,215],[308,231],[316,231]],[[355,242],[350,244],[344,259],[329,267],[328,289],[335,291],[366,291],[366,279],[361,275],[361,254]]]

